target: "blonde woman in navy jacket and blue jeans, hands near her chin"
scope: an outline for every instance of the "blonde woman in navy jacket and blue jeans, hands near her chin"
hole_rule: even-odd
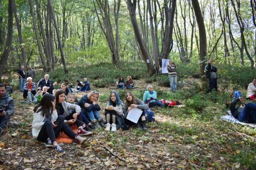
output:
[[[106,127],[103,123],[103,119],[100,116],[101,107],[97,104],[100,93],[96,90],[90,92],[83,96],[81,100],[78,101],[78,105],[82,108],[83,118],[89,117],[92,125],[99,127],[98,124],[102,127]]]

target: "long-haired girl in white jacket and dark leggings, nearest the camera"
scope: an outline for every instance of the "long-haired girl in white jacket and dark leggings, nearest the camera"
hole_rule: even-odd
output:
[[[65,151],[56,142],[60,132],[81,144],[85,138],[75,135],[72,129],[64,123],[64,117],[58,116],[55,108],[55,96],[45,94],[40,103],[34,107],[32,135],[40,142],[45,142],[46,147],[54,147],[57,153],[65,154]]]

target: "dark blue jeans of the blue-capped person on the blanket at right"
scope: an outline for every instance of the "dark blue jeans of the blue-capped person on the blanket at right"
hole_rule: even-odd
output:
[[[238,114],[238,120],[245,123],[256,123],[256,104],[248,103]]]

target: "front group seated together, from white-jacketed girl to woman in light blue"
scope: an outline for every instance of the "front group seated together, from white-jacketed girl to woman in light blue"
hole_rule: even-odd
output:
[[[91,131],[98,127],[104,127],[106,131],[115,132],[120,127],[135,125],[139,129],[147,130],[146,110],[149,109],[149,106],[163,106],[157,102],[156,92],[150,85],[143,96],[145,103],[137,99],[131,92],[126,93],[124,103],[118,92],[113,91],[110,93],[107,106],[103,111],[106,119],[104,122],[100,115],[102,108],[98,104],[99,97],[100,93],[96,90],[84,95],[79,101],[77,101],[74,93],[69,93],[66,96],[63,89],[57,89],[55,95],[44,94],[39,104],[34,107],[33,137],[63,154],[65,151],[56,142],[56,137],[60,132],[64,132],[80,144],[86,139],[83,136],[92,135]],[[142,111],[137,123],[126,119],[129,111],[133,108]],[[78,127],[77,134],[70,127],[73,124]]]

